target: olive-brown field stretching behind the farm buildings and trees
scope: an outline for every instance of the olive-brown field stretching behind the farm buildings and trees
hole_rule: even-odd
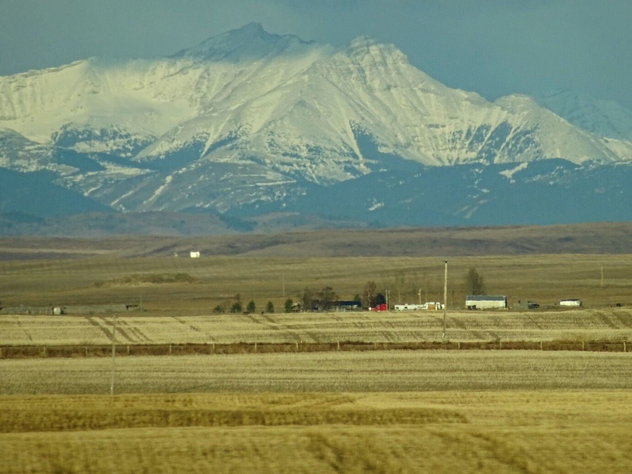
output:
[[[448,308],[463,308],[465,274],[475,267],[486,293],[509,305],[563,298],[585,307],[632,305],[632,255],[501,255],[449,259]],[[604,279],[602,281],[602,268]],[[150,314],[208,315],[239,296],[257,312],[276,312],[305,288],[329,286],[340,299],[362,294],[368,281],[389,289],[391,304],[442,300],[444,262],[437,257],[92,257],[0,262],[0,307],[123,303]],[[421,295],[420,295],[421,293]]]

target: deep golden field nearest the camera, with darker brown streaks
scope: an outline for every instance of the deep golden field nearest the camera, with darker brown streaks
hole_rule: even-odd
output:
[[[628,390],[0,398],[0,473],[624,473]],[[44,427],[46,430],[42,430]]]

